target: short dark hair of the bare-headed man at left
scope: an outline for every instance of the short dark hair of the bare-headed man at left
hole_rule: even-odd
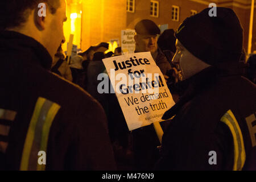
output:
[[[39,3],[47,3],[51,14],[55,14],[60,7],[60,0],[1,0],[0,30],[21,26],[32,10],[39,10]]]

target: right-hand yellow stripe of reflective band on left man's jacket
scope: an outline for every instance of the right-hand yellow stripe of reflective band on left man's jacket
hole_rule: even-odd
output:
[[[40,151],[47,151],[47,143],[48,143],[48,137],[49,137],[49,130],[52,126],[53,119],[55,118],[57,112],[59,111],[60,106],[54,103],[51,106],[51,109],[49,109],[46,117],[46,122],[44,122],[43,131],[42,131],[42,140],[41,140],[41,146]],[[37,171],[44,171],[46,169],[46,165],[42,164],[37,166]]]

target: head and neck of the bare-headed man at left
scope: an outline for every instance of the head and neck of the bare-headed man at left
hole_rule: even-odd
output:
[[[3,0],[0,7],[0,30],[19,32],[35,39],[52,58],[65,42],[65,0]]]

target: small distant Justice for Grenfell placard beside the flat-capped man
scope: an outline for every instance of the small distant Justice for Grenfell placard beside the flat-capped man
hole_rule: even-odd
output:
[[[124,53],[133,53],[135,49],[135,30],[121,31],[121,47]]]

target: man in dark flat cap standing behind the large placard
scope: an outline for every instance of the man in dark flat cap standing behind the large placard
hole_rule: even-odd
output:
[[[135,31],[135,52],[151,52],[156,65],[163,75],[166,75],[167,71],[171,69],[171,64],[167,61],[166,56],[159,52],[157,41],[160,29],[158,26],[151,20],[143,19],[135,25]],[[152,169],[159,155],[157,147],[160,146],[154,127],[152,125],[144,126],[133,130],[132,135],[135,169]]]

